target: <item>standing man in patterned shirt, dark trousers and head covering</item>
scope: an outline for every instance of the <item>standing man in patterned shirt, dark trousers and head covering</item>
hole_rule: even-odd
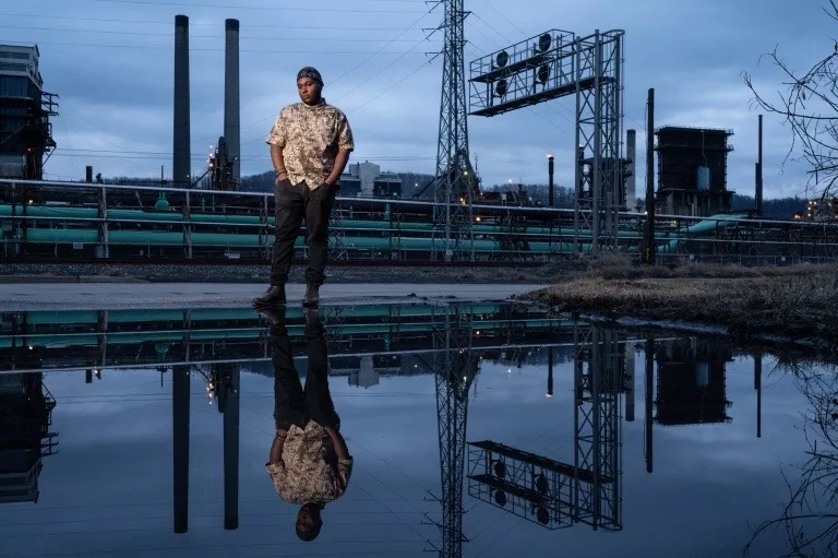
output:
[[[267,135],[274,164],[276,236],[271,260],[271,286],[258,306],[285,304],[285,283],[294,244],[306,218],[309,266],[303,306],[316,306],[328,253],[328,217],[340,188],[338,180],[355,149],[346,115],[322,97],[323,80],[314,68],[297,74],[301,103],[283,108]]]

